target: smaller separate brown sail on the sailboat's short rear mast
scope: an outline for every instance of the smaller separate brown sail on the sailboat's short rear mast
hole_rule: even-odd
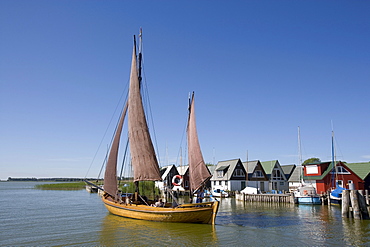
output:
[[[208,179],[212,177],[211,173],[204,163],[202,151],[200,150],[195,121],[194,93],[190,99],[187,134],[190,188],[192,193],[194,193]]]

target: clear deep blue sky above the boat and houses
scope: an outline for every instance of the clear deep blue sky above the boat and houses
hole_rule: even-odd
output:
[[[184,149],[191,91],[206,162],[296,164],[298,126],[303,160],[331,160],[332,123],[337,159],[369,161],[369,13],[369,1],[0,1],[0,179],[98,175],[140,27],[162,165]]]

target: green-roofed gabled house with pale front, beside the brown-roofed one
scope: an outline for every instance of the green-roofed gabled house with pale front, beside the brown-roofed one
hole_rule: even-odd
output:
[[[278,160],[264,161],[261,165],[269,178],[269,191],[289,191],[288,180]]]

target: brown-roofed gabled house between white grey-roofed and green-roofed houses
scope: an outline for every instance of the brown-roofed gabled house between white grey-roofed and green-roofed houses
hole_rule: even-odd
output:
[[[254,187],[262,193],[266,192],[269,188],[269,178],[263,170],[261,162],[254,160],[243,162],[243,165],[245,170],[248,171],[248,179],[245,184],[242,183],[242,189],[245,187]]]

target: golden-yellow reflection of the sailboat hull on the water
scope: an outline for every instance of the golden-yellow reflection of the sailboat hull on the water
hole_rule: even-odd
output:
[[[206,224],[163,223],[128,219],[107,214],[101,224],[99,242],[117,245],[216,245],[215,228]]]

